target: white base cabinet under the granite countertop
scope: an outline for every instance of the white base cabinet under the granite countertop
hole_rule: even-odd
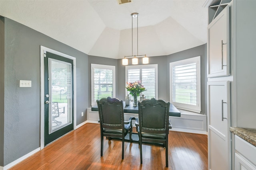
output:
[[[235,170],[256,170],[256,147],[235,137]]]

